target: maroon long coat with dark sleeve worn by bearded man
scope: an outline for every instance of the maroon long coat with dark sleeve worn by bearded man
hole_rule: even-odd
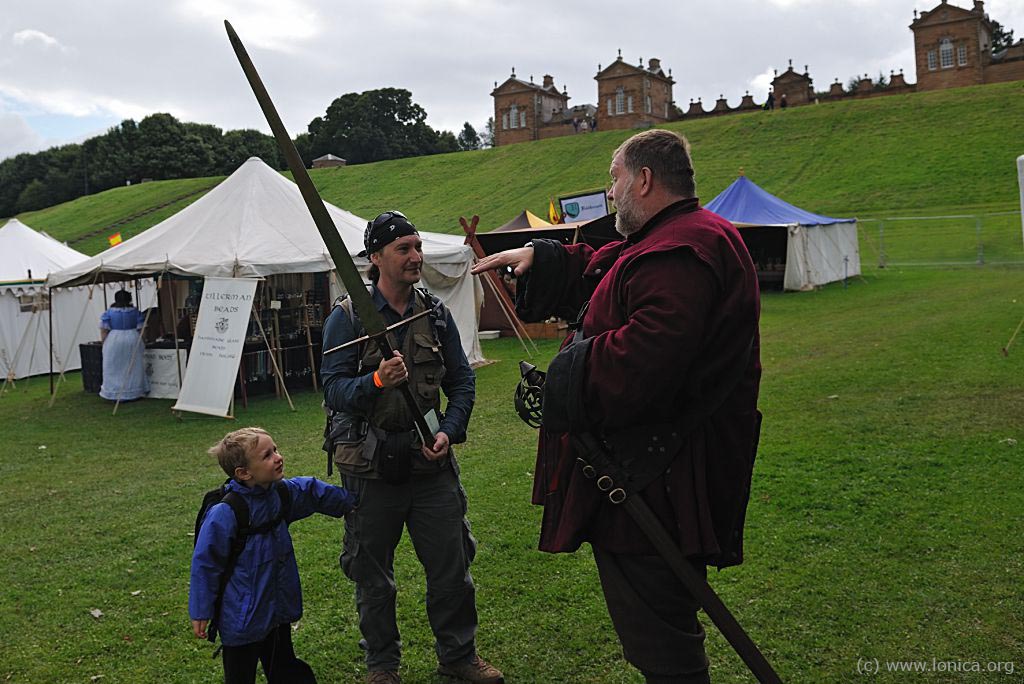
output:
[[[693,199],[597,252],[535,241],[520,315],[572,319],[588,297],[583,327],[594,339],[583,394],[596,431],[707,413],[716,388],[732,387],[641,496],[686,555],[738,564],[761,378],[757,275],[738,231]],[[615,553],[655,553],[629,514],[583,477],[566,435],[543,428],[534,503],[545,507],[542,551],[590,542]]]

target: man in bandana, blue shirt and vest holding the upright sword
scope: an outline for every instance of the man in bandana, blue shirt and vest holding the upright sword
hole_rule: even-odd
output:
[[[476,540],[465,518],[466,494],[451,452],[452,444],[466,439],[475,376],[451,312],[415,287],[423,267],[416,226],[400,212],[385,212],[367,224],[364,245],[372,262],[371,296],[385,322],[429,311],[394,331],[391,358],[364,342],[326,353],[321,368],[331,413],[328,448],[357,500],[345,521],[341,567],[355,583],[367,682],[400,681],[393,562],[403,527],[427,576],[438,672],[469,682],[504,682],[502,673],[476,654],[476,590],[469,571]],[[324,348],[362,334],[351,302],[343,299],[328,317]],[[406,382],[419,412],[436,426],[427,443],[399,391]],[[443,413],[441,392],[447,398]]]

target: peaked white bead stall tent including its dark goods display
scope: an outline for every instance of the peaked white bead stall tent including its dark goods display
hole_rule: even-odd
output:
[[[352,255],[367,221],[325,203]],[[477,315],[482,291],[470,273],[473,253],[461,238],[421,232],[423,285],[452,310],[471,364],[482,361]],[[366,270],[369,261],[355,258]],[[159,281],[159,309],[144,339],[188,350],[204,279],[258,281],[236,394],[315,387],[323,324],[342,290],[334,263],[298,187],[253,158],[217,187],[165,221],[71,268],[51,287],[147,276]],[[275,368],[276,367],[276,368]],[[83,378],[84,381],[84,378]]]

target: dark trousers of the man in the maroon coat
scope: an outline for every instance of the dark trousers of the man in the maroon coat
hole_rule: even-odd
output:
[[[660,556],[594,548],[601,589],[623,654],[650,684],[706,684],[699,606]],[[703,564],[694,565],[707,576]]]

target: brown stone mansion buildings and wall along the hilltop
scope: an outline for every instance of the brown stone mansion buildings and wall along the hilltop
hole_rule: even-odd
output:
[[[998,51],[992,48],[992,23],[984,2],[974,0],[964,9],[942,0],[934,9],[920,14],[914,10],[914,66],[918,82],[907,83],[903,72],[891,72],[889,83],[877,84],[866,75],[856,87],[845,90],[837,80],[827,90],[815,91],[807,67],[794,71],[793,60],[782,74],[776,71],[772,92],[776,106],[784,99],[790,106],[859,99],[905,92],[958,88],[984,83],[1024,80],[1024,40]],[[706,110],[700,98],[690,99],[681,110],[673,98],[675,80],[672,70],[662,68],[659,59],[650,58],[644,66],[631,65],[618,57],[608,67],[598,65],[597,104],[569,106],[565,87],[558,90],[554,78],[544,77],[541,84],[529,77],[524,81],[512,70],[504,83],[495,83],[490,92],[495,101],[495,146],[572,135],[587,130],[647,128],[668,121],[716,116],[760,109],[748,92],[737,106],[730,106],[719,96]]]

